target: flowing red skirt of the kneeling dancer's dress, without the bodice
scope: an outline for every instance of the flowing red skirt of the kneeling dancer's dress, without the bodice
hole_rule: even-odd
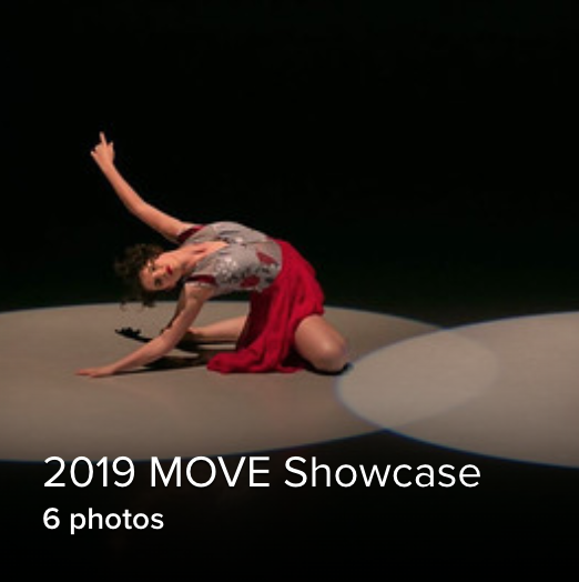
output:
[[[294,349],[302,320],[324,313],[324,292],[314,268],[288,242],[282,248],[282,270],[271,287],[253,291],[250,314],[234,352],[214,355],[210,370],[232,372],[295,372],[306,361]]]

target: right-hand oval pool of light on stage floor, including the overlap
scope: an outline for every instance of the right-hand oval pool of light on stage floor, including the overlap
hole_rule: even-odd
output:
[[[424,442],[579,466],[579,313],[502,319],[408,339],[338,387],[362,418]]]

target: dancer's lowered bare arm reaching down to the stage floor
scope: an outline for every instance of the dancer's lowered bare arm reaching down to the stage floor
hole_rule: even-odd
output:
[[[160,335],[116,362],[98,368],[83,368],[77,374],[91,378],[112,375],[146,365],[169,353],[186,333],[203,303],[213,294],[213,290],[192,285],[187,289],[187,285],[184,285],[183,293],[183,308]]]

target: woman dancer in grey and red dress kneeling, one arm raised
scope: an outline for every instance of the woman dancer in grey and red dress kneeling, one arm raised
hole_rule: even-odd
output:
[[[172,251],[152,244],[132,247],[118,271],[136,283],[145,304],[177,284],[181,294],[160,335],[116,362],[78,374],[101,378],[149,364],[184,337],[201,343],[234,341],[234,352],[219,353],[207,363],[222,373],[344,370],[346,341],[324,319],[324,294],[315,272],[290,243],[235,222],[182,222],[152,207],[121,175],[113,143],[103,133],[91,155],[126,209],[179,244]],[[205,301],[241,290],[250,292],[248,315],[191,329]]]

